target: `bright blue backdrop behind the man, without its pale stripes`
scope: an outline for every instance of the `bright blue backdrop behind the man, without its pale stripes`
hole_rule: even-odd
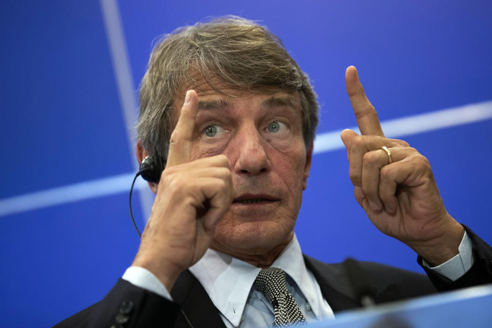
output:
[[[309,73],[321,104],[318,133],[356,124],[344,86],[349,65],[358,68],[380,120],[492,99],[489,1],[118,6],[134,86],[156,36],[208,16],[260,20]],[[2,7],[0,199],[134,172],[100,3]],[[483,120],[405,137],[432,164],[448,212],[489,243],[491,127]],[[411,250],[367,220],[347,172],[344,149],[314,156],[296,226],[303,251],[324,261],[354,256],[420,271]],[[136,196],[133,205],[143,227]],[[98,301],[139,244],[126,191],[7,214],[0,223],[0,326],[51,326]]]

